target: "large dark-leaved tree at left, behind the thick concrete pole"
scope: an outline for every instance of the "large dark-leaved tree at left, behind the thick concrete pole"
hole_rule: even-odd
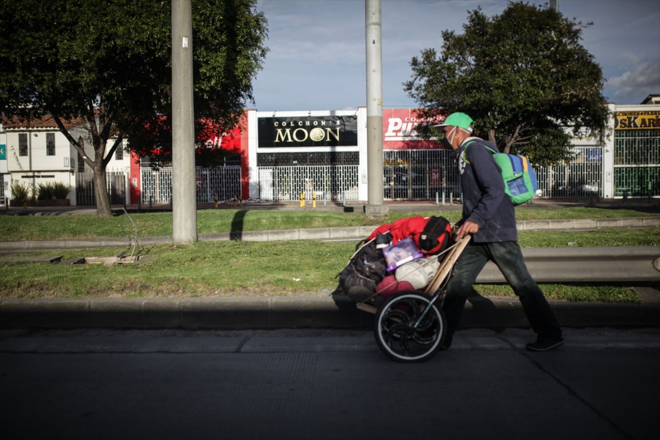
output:
[[[110,216],[106,166],[123,139],[171,113],[171,12],[161,0],[0,0],[0,113],[86,121],[96,212]],[[193,1],[195,117],[233,128],[267,53],[256,0]],[[164,126],[170,129],[171,124]],[[162,135],[162,133],[160,133]],[[108,140],[116,139],[108,148]],[[192,148],[192,146],[191,146]]]

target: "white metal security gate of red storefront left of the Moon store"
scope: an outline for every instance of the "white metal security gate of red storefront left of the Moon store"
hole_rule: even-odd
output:
[[[241,196],[241,167],[195,168],[197,203],[228,201]],[[172,201],[172,167],[142,168],[141,201],[170,203]]]

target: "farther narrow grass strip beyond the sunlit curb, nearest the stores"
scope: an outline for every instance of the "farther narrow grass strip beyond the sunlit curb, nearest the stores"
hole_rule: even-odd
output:
[[[450,222],[461,218],[460,210],[391,212],[385,218],[369,218],[356,212],[207,209],[197,211],[198,234],[377,226],[414,215],[442,215]],[[640,210],[611,208],[518,208],[517,220],[572,220],[582,218],[631,218],[652,216]],[[144,212],[97,218],[94,214],[66,216],[3,216],[0,237],[7,241],[82,239],[133,236],[131,220],[139,237],[172,236],[172,212]]]

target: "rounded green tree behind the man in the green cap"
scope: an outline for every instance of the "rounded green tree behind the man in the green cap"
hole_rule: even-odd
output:
[[[422,115],[464,111],[500,150],[558,163],[572,156],[566,127],[600,136],[608,118],[603,72],[580,44],[587,25],[522,2],[491,18],[478,8],[463,34],[442,32],[440,57],[413,57],[403,85]]]

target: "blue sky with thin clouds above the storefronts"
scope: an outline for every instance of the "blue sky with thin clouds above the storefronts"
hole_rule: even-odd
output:
[[[543,5],[545,1],[530,1]],[[558,0],[569,18],[590,22],[584,47],[607,79],[603,94],[639,104],[660,93],[660,0]],[[383,106],[415,107],[403,91],[422,49],[440,53],[442,30],[462,32],[467,12],[504,11],[500,0],[383,0]],[[259,0],[270,48],[253,82],[258,110],[341,110],[366,103],[364,0]]]

